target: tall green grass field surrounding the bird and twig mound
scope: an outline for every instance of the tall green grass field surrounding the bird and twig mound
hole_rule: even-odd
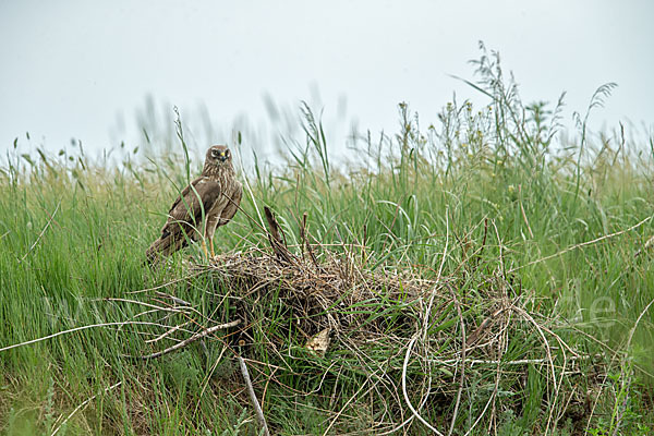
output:
[[[298,238],[295,217],[307,211],[313,234],[324,243],[365,241],[373,261],[398,268],[421,265],[426,276],[429,268],[437,269],[448,232],[445,274],[457,275],[467,251],[482,245],[486,219],[489,231],[482,265],[487,265],[489,274],[500,245],[509,269],[654,215],[651,156],[620,150],[615,143],[613,147],[600,144],[596,150],[584,143],[581,155],[579,143],[566,153],[554,153],[543,113],[532,110],[525,119],[516,120],[510,114],[520,113],[511,112],[520,102],[510,89],[486,89],[501,97],[492,109],[477,113],[469,105],[449,105],[439,128],[426,132],[419,131],[408,109],[401,107],[397,137],[387,138],[379,149],[365,142],[361,145],[360,156],[370,157],[367,169],[332,168],[319,124],[307,117],[307,148],[296,153],[287,170],[253,175],[253,195],[246,195],[242,206],[256,217],[255,202],[259,209],[263,204],[271,205],[291,240]],[[98,299],[125,298],[129,291],[165,280],[144,274],[143,252],[161,225],[157,214],[174,195],[164,173],[181,182],[184,171],[179,166],[157,171],[143,165],[154,171],[136,169],[142,174],[136,180],[128,170],[105,170],[77,157],[75,161],[46,158],[31,166],[25,158],[12,156],[13,167],[22,162],[24,169],[7,168],[0,178],[0,347],[77,326],[128,319],[140,308]],[[574,327],[560,329],[570,343],[604,355],[600,362],[606,366],[601,372],[606,370],[609,377],[591,380],[595,367],[589,363],[583,366],[589,377],[566,386],[568,393],[601,392],[591,428],[613,429],[618,417],[623,434],[646,433],[654,426],[653,379],[647,375],[654,373],[654,310],[644,313],[626,344],[635,319],[654,299],[654,261],[650,255],[634,257],[654,233],[653,227],[647,221],[633,231],[516,271],[522,292],[532,295],[534,311]],[[259,233],[241,213],[217,242],[223,251],[238,250],[259,243]],[[196,251],[183,255],[189,253]],[[462,283],[460,292],[474,291],[473,281]],[[191,291],[180,287],[180,292],[193,294],[195,289],[202,294],[203,286],[196,283]],[[475,319],[481,320],[470,314],[469,322]],[[534,355],[541,355],[537,344],[532,347]],[[251,414],[243,412],[249,405],[233,363],[222,356],[222,363],[213,367],[221,355],[219,342],[209,344],[208,355],[191,347],[148,363],[119,356],[142,351],[142,338],[107,327],[1,352],[0,427],[11,434],[49,434],[75,407],[122,382],[75,413],[66,424],[68,434],[172,435],[208,429],[231,434],[239,425],[254,428],[245,422]],[[380,361],[388,358],[372,353]],[[278,386],[257,385],[259,396],[267,389],[268,419],[286,434],[322,434],[329,423],[326,416],[334,416],[326,410],[341,410],[365,378],[354,371],[322,386],[323,373],[312,368],[310,361],[295,359],[290,365],[312,376],[277,374]],[[528,371],[537,374],[543,368],[530,366]],[[255,371],[255,379],[265,380],[262,376],[267,374]],[[500,433],[538,433],[545,427],[542,377],[529,379],[521,398],[504,400],[507,405],[498,411],[495,423]],[[471,382],[470,391],[483,392],[484,383],[489,383],[486,375],[480,375]],[[302,395],[316,389],[318,393]],[[465,393],[459,429],[470,427],[479,415],[486,398],[479,396],[483,398]],[[353,404],[347,412],[352,417],[339,427],[341,432],[368,428],[379,413],[375,408],[382,407],[360,398]],[[589,413],[580,415],[589,419]],[[429,417],[443,424],[444,431],[449,424],[438,421],[436,412]],[[564,419],[558,432],[568,434],[573,424]],[[485,434],[488,425],[480,426],[479,434]],[[416,434],[423,431],[417,422],[410,427]]]

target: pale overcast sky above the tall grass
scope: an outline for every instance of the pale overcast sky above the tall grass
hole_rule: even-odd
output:
[[[147,95],[191,123],[205,105],[226,131],[239,117],[269,123],[265,94],[373,131],[396,129],[408,101],[428,123],[452,92],[480,97],[448,75],[473,77],[479,40],[524,100],[566,90],[569,121],[617,82],[596,123],[652,130],[653,17],[649,0],[0,0],[0,150],[25,132],[49,150],[71,137],[95,150],[137,143],[129,132]]]

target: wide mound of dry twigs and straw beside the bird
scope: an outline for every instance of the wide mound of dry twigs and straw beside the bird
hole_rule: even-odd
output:
[[[533,301],[505,277],[501,262],[492,274],[475,274],[476,263],[470,262],[456,277],[425,279],[421,271],[367,267],[362,246],[310,244],[304,226],[301,253],[292,253],[266,211],[269,250],[223,254],[209,265],[192,266],[194,276],[213,283],[205,289],[211,316],[193,315],[199,311],[185,308],[192,303],[157,293],[159,302],[173,302],[186,318],[183,327],[206,326],[207,319],[223,324],[195,331],[175,325],[164,335],[178,336],[178,343],[145,358],[231,329],[219,339],[228,347],[250,346],[241,350],[256,361],[265,354],[286,362],[293,353],[323,368],[317,388],[306,384],[313,391],[343,372],[364,374],[359,397],[384,404],[375,419],[378,432],[415,420],[438,432],[455,425],[462,402],[476,411],[474,425],[484,416],[496,420],[502,409],[520,407],[529,367],[546,387],[548,427],[569,417],[570,404],[588,401],[574,391],[561,395],[588,356],[567,344],[550,320],[528,310]],[[473,278],[477,282],[464,287]],[[305,376],[315,379],[314,373]],[[276,377],[271,374],[266,386]],[[471,386],[485,388],[465,389]],[[330,425],[340,422],[334,413]]]

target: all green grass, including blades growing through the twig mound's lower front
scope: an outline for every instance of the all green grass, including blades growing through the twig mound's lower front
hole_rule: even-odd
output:
[[[538,322],[593,358],[580,361],[578,374],[561,378],[556,398],[546,366],[502,364],[497,401],[483,415],[497,367],[467,367],[455,434],[465,434],[480,415],[472,434],[488,428],[505,435],[582,434],[586,427],[592,434],[654,432],[654,307],[647,310],[654,300],[654,259],[650,252],[634,256],[654,234],[654,223],[646,220],[654,216],[652,140],[631,144],[619,133],[592,135],[580,116],[577,138],[559,141],[559,106],[524,106],[492,56],[477,68],[475,86],[492,97],[488,107],[450,102],[421,130],[424,123],[402,104],[399,132],[379,141],[361,137],[358,161],[347,166],[337,164],[319,120],[304,107],[306,142],[289,146],[283,167],[257,166],[240,174],[250,186],[244,213],[218,232],[217,246],[225,252],[265,247],[254,221],[268,205],[289,244],[300,243],[298,220],[306,211],[314,238],[365,245],[373,269],[434,279],[445,252],[443,276],[456,284],[469,335],[492,306],[483,283],[504,275],[510,298],[523,299]],[[589,110],[609,93],[610,86],[598,89]],[[81,146],[60,156],[8,154],[0,172],[0,348],[80,326],[154,319],[141,314],[146,307],[106,299],[138,299],[129,292],[181,275],[180,261],[199,253],[193,246],[175,255],[172,271],[143,266],[162,214],[189,174],[198,172],[198,162],[187,162],[181,133],[180,122],[180,153],[147,160],[144,150],[118,150],[119,167],[88,158]],[[566,251],[643,220],[630,231]],[[221,286],[199,277],[168,290],[193,301],[203,315],[229,317],[238,308],[216,306],[205,292]],[[263,362],[250,371],[259,399],[266,392],[264,411],[275,433],[323,434],[341,410],[332,434],[377,434],[411,415],[400,374],[393,372],[402,366],[410,337],[404,343],[370,343],[367,362],[338,341],[316,359],[302,350],[305,338],[276,301],[272,293],[256,302],[261,323],[253,329],[256,344],[247,351]],[[385,310],[389,318],[407,311],[400,302]],[[453,332],[444,353],[460,349],[455,306],[445,314],[429,330]],[[505,361],[544,355],[528,327],[516,322]],[[148,362],[122,356],[143,354],[149,350],[144,335],[160,331],[136,325],[89,328],[0,352],[0,428],[50,434],[84,403],[58,434],[256,432],[238,363],[221,340]],[[271,338],[282,348],[272,351]],[[383,367],[391,374],[379,379],[389,382],[371,390],[371,372]],[[431,376],[413,361],[408,371],[416,390]],[[445,377],[439,372],[449,370],[433,365],[431,371],[438,380]],[[457,391],[445,388],[432,386],[421,414],[447,434]],[[410,395],[414,404],[422,398],[420,391]],[[547,425],[550,412],[554,426]],[[417,420],[403,428],[427,432]]]

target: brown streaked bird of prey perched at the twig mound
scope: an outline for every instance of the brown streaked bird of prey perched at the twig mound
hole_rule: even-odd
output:
[[[174,201],[161,235],[147,249],[145,255],[148,263],[186,246],[189,240],[201,240],[207,257],[208,240],[211,257],[215,257],[216,228],[232,219],[242,196],[243,186],[237,180],[229,148],[226,145],[211,146],[207,150],[202,174],[184,187]]]

